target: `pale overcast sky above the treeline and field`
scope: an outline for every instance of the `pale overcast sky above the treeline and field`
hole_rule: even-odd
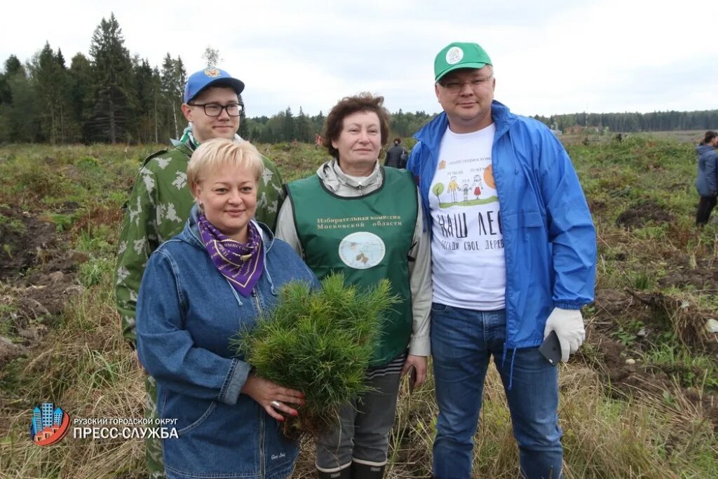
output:
[[[477,42],[493,60],[495,98],[523,115],[718,108],[715,0],[12,1],[0,61],[29,60],[45,41],[70,63],[88,55],[113,12],[131,55],[187,73],[220,68],[246,84],[248,116],[299,106],[324,113],[370,91],[390,111],[439,111],[434,56]]]

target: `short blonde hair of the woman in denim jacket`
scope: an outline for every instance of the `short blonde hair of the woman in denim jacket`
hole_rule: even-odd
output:
[[[190,188],[202,182],[205,172],[215,168],[233,164],[245,167],[254,173],[254,179],[259,178],[264,172],[264,160],[249,141],[235,141],[226,138],[215,138],[200,144],[200,147],[192,153],[190,162],[187,164],[187,183]]]

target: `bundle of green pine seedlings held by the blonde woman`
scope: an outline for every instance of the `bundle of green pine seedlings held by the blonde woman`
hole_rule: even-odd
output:
[[[304,393],[299,417],[287,417],[289,437],[316,437],[337,421],[340,407],[368,390],[364,378],[383,315],[398,302],[386,279],[371,289],[344,284],[344,275],[311,291],[290,282],[276,308],[234,341],[254,373]]]

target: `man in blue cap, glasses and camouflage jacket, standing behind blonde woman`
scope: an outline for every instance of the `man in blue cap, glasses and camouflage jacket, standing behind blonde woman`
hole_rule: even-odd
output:
[[[225,70],[207,68],[192,73],[185,86],[182,113],[190,122],[175,146],[151,154],[142,163],[122,222],[115,276],[117,309],[123,335],[135,343],[135,309],[139,284],[149,255],[180,233],[194,200],[187,187],[187,163],[192,152],[213,138],[237,139],[243,108],[244,83]],[[257,185],[257,219],[274,228],[284,197],[281,177],[274,164],[262,157],[264,172]],[[157,417],[154,380],[146,377],[147,414]],[[146,440],[146,464],[150,479],[164,477],[162,442]]]

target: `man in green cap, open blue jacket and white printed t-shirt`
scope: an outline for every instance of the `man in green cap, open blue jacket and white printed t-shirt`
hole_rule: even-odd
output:
[[[434,478],[471,477],[492,355],[522,477],[560,478],[558,371],[538,346],[555,331],[567,361],[584,340],[580,310],[595,284],[591,215],[554,134],[493,100],[493,65],[479,45],[448,45],[434,74],[444,113],[416,134],[407,165],[432,233]]]

